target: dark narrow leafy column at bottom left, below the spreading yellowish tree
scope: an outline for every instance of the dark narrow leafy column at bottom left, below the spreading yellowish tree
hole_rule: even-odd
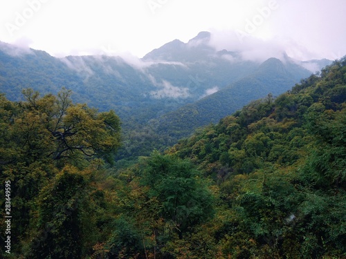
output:
[[[83,230],[81,213],[86,181],[66,168],[37,200],[38,233],[30,244],[30,258],[81,258]]]

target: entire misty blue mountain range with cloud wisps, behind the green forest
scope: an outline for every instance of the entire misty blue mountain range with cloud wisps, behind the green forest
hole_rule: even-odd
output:
[[[173,144],[177,137],[217,122],[252,99],[283,93],[311,74],[304,67],[314,70],[328,63],[286,56],[264,62],[245,60],[242,52],[216,50],[210,37],[210,32],[200,32],[187,43],[176,39],[143,59],[104,55],[56,58],[41,50],[0,43],[0,92],[19,100],[23,88],[56,94],[65,87],[73,91],[74,102],[100,111],[113,109],[124,131],[120,157],[136,157]],[[183,124],[176,124],[179,117]],[[146,137],[138,137],[142,146],[134,146],[133,136],[150,140],[154,136],[158,142],[145,147]]]

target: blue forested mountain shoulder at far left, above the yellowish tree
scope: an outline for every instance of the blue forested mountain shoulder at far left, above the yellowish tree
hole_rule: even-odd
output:
[[[57,93],[62,86],[82,85],[81,77],[48,53],[0,42],[0,90],[8,99],[19,100],[22,88],[44,94]]]

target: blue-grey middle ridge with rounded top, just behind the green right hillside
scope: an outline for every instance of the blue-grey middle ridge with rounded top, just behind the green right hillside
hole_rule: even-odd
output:
[[[297,72],[298,70],[298,72]],[[264,61],[252,75],[208,95],[193,104],[188,104],[161,116],[158,132],[165,132],[179,140],[191,133],[191,129],[217,123],[219,119],[235,113],[251,100],[277,96],[296,84],[309,71],[297,64],[271,58]]]

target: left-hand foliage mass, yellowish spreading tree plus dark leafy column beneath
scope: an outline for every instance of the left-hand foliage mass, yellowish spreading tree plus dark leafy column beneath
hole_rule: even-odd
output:
[[[66,89],[57,96],[40,97],[31,89],[23,95],[22,102],[0,95],[0,179],[11,182],[13,254],[80,258],[83,242],[90,240],[82,238],[80,210],[73,209],[86,186],[78,170],[102,164],[102,159],[113,162],[120,120],[113,111],[98,113],[73,104]],[[71,165],[78,166],[74,174],[66,173]]]

